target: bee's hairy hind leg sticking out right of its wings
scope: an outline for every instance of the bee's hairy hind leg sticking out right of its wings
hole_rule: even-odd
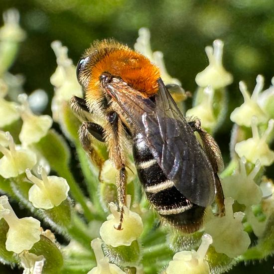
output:
[[[224,162],[220,148],[214,140],[214,138],[210,134],[208,134],[203,128],[201,128],[201,121],[199,119],[189,122],[188,125],[192,128],[194,132],[197,132],[201,137],[203,148],[209,158],[209,161],[214,172],[215,186],[217,191],[215,200],[219,209],[218,214],[224,215],[224,193],[220,182],[220,178],[218,176],[218,172],[222,171],[224,167]]]

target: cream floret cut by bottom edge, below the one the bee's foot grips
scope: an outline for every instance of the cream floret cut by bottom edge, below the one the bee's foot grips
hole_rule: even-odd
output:
[[[99,238],[91,241],[91,247],[95,254],[97,267],[93,268],[87,274],[126,274],[116,265],[109,263],[110,259],[104,256],[101,245],[102,241]]]

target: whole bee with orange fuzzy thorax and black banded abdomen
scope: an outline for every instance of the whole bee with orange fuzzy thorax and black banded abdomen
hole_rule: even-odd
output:
[[[205,208],[214,200],[224,214],[220,149],[198,119],[186,121],[157,66],[127,45],[103,40],[86,50],[77,78],[84,99],[74,96],[71,108],[83,121],[82,146],[98,161],[93,141],[106,142],[118,170],[118,230],[123,229],[130,147],[139,181],[161,220],[192,233],[201,228]]]

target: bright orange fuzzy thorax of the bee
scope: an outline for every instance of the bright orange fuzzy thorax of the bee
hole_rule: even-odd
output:
[[[159,69],[148,58],[117,42],[103,42],[98,45],[98,53],[91,67],[91,80],[88,91],[99,88],[99,77],[103,72],[121,77],[129,86],[150,97],[157,92]],[[101,47],[101,48],[100,48]],[[100,51],[104,51],[100,58]]]

